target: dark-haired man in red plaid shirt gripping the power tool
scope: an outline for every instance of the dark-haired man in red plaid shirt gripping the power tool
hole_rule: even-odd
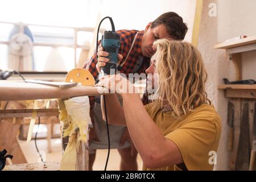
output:
[[[128,76],[129,73],[145,73],[150,66],[150,58],[154,55],[152,44],[157,39],[170,38],[183,40],[187,33],[187,26],[183,19],[174,12],[160,15],[147,24],[145,30],[118,30],[120,36],[119,58],[123,58],[120,72]],[[100,44],[100,42],[99,42]],[[130,54],[129,54],[130,52]],[[99,48],[98,60],[96,53],[84,64],[94,78],[98,77],[100,67],[104,67],[109,61],[106,57],[108,52]],[[106,123],[102,120],[100,97],[90,97],[90,117],[94,129],[90,130],[89,136],[89,169],[92,170],[97,149],[108,148]],[[137,151],[130,139],[127,127],[109,125],[111,148],[117,148],[121,155],[121,170],[137,170]]]

